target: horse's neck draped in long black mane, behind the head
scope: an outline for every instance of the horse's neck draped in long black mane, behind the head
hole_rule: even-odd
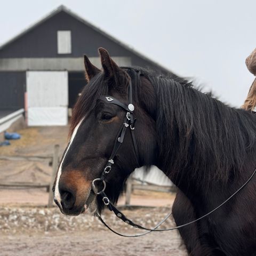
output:
[[[255,149],[255,117],[171,79],[157,94],[158,167],[178,186],[224,185]]]

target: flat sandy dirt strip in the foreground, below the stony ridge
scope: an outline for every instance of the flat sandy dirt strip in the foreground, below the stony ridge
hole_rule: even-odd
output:
[[[108,231],[0,238],[2,256],[185,256],[176,233],[121,238]]]

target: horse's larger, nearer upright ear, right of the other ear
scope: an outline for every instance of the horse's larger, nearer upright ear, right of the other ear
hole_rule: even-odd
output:
[[[125,93],[128,84],[127,82],[129,81],[128,74],[122,68],[117,66],[115,61],[110,58],[107,50],[99,48],[99,54],[106,77],[113,78],[115,89]]]

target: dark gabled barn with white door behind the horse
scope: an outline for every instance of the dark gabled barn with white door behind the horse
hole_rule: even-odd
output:
[[[100,68],[99,47],[119,66],[170,72],[61,5],[0,47],[0,118],[25,109],[29,126],[67,125],[85,85],[83,55]]]

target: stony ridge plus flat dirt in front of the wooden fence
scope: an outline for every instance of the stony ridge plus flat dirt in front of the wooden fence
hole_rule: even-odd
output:
[[[167,208],[147,208],[124,213],[142,225],[153,227],[168,211]],[[109,213],[103,216],[123,233],[138,232]],[[170,219],[163,227],[173,225]],[[67,217],[56,208],[2,207],[0,230],[1,256],[187,255],[175,230],[138,238],[119,237],[94,217]]]

